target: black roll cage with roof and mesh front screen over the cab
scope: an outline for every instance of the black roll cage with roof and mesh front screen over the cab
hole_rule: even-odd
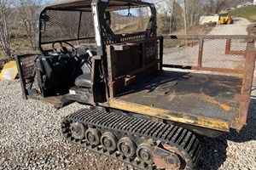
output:
[[[150,8],[145,31],[115,34],[105,20],[109,11],[126,8]],[[46,55],[43,46],[56,41],[84,41],[95,39],[97,54],[106,53],[106,45],[156,37],[154,4],[132,0],[75,0],[44,6],[37,13],[36,45]]]

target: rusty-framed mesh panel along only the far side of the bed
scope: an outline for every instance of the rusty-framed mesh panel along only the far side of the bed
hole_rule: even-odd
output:
[[[164,36],[163,66],[243,75],[249,39],[256,37]]]

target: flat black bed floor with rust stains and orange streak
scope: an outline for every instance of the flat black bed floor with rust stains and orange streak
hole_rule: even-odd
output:
[[[239,114],[234,98],[240,93],[239,77],[163,71],[118,99],[231,122]]]

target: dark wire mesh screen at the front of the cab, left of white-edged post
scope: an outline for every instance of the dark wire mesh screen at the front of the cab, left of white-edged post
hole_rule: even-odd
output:
[[[48,9],[44,15],[48,20],[44,21],[41,32],[42,43],[94,37],[91,12]]]

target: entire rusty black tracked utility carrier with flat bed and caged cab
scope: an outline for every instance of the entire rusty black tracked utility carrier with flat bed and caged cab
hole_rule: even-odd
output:
[[[38,11],[38,52],[16,61],[24,99],[87,105],[61,122],[68,141],[140,169],[196,169],[199,135],[246,124],[254,41],[158,37],[154,4],[76,0]]]

